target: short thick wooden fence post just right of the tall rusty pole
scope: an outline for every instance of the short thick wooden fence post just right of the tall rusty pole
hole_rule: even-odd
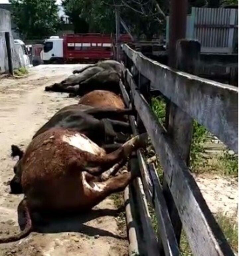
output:
[[[200,58],[200,43],[196,40],[177,41],[177,69],[197,74]],[[180,90],[180,88],[179,88]],[[180,91],[178,92],[180,93]],[[168,134],[173,139],[182,159],[189,165],[190,146],[193,133],[193,119],[174,103],[170,103]],[[163,180],[163,192],[168,205],[176,239],[180,244],[182,223],[166,180]]]

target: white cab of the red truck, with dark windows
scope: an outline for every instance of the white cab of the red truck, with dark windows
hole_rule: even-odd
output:
[[[63,60],[63,38],[51,36],[44,40],[43,45],[40,56],[44,63],[58,63]]]

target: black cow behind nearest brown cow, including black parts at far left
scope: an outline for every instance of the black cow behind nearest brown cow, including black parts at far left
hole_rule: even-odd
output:
[[[115,150],[120,146],[117,142],[125,142],[131,132],[130,126],[126,122],[119,121],[123,115],[133,114],[131,109],[115,108],[92,108],[81,104],[69,105],[60,109],[50,120],[45,123],[33,136],[33,139],[39,134],[51,128],[66,128],[78,131],[86,135],[100,146],[103,146],[108,152]],[[122,135],[122,132],[125,135]],[[12,156],[19,156],[19,162],[14,167],[14,177],[10,181],[11,192],[22,193],[21,174],[16,172],[21,165],[23,151],[17,146],[12,145]],[[20,163],[20,164],[19,164]]]

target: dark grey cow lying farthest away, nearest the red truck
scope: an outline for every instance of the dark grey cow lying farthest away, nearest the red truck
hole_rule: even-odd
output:
[[[84,95],[95,89],[109,90],[119,93],[119,80],[123,73],[119,62],[109,60],[93,66],[87,66],[51,86],[46,86],[46,91],[69,92]]]

